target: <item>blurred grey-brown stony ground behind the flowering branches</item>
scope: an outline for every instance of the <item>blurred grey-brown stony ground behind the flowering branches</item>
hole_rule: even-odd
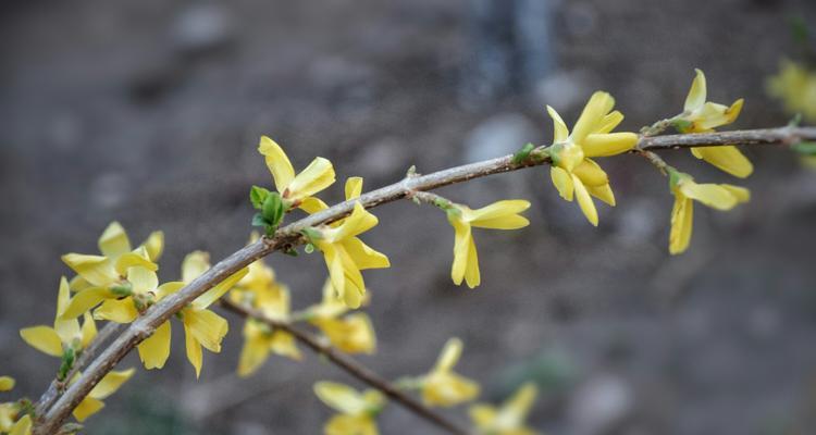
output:
[[[605,89],[621,129],[682,110],[693,69],[709,99],[746,99],[733,128],[791,117],[765,92],[795,53],[791,17],[808,0],[7,1],[0,5],[0,373],[37,398],[58,361],[17,330],[50,324],[65,252],[96,252],[113,220],[134,243],[163,229],[162,279],[194,249],[242,247],[267,134],[297,169],[332,160],[366,188],[497,157],[552,138],[545,104],[571,125]],[[387,377],[429,370],[461,337],[458,371],[499,401],[526,380],[531,423],[549,434],[816,433],[816,174],[791,152],[745,150],[734,181],[664,157],[698,181],[750,187],[729,213],[697,208],[691,249],[667,253],[672,197],[647,162],[602,162],[618,207],[589,225],[542,167],[441,192],[472,207],[527,198],[531,225],[475,235],[482,286],[449,278],[453,231],[409,201],[374,211],[366,241],[393,266],[366,274]],[[269,263],[296,309],[320,298],[319,254]],[[242,322],[196,382],[181,334],[87,422],[90,434],[316,434],[332,411],[316,381],[349,382],[304,350],[234,375]],[[175,328],[175,333],[181,333]],[[121,366],[138,366],[135,355]],[[465,422],[463,410],[449,412]],[[437,434],[397,405],[384,434]]]

